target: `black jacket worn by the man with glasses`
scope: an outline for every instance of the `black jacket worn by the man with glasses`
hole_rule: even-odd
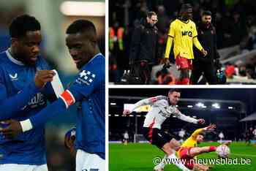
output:
[[[151,26],[145,19],[140,21],[132,33],[132,42],[129,51],[129,61],[148,61],[148,64],[154,64],[157,54],[157,36],[156,26]]]

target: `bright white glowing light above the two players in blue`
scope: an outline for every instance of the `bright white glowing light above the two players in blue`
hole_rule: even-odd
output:
[[[61,12],[71,16],[105,16],[105,2],[100,1],[64,1]]]

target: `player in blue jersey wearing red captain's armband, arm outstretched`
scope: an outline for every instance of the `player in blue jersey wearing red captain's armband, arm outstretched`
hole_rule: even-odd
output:
[[[72,104],[78,103],[76,171],[105,170],[105,57],[99,52],[96,28],[89,20],[76,20],[67,28],[66,45],[80,70],[60,98],[24,121],[10,120],[0,132],[12,138],[37,129]]]

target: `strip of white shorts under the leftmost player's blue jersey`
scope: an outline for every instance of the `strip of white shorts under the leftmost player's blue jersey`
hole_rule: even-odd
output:
[[[29,164],[0,164],[0,171],[48,171],[47,164],[29,165]]]

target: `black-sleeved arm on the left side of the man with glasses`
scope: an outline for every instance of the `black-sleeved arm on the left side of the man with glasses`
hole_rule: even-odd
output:
[[[130,64],[133,64],[133,62],[136,60],[139,50],[140,50],[140,37],[142,29],[140,26],[137,26],[135,28],[135,31],[133,31],[132,34],[132,42],[130,47],[130,55],[129,55],[129,62]]]

